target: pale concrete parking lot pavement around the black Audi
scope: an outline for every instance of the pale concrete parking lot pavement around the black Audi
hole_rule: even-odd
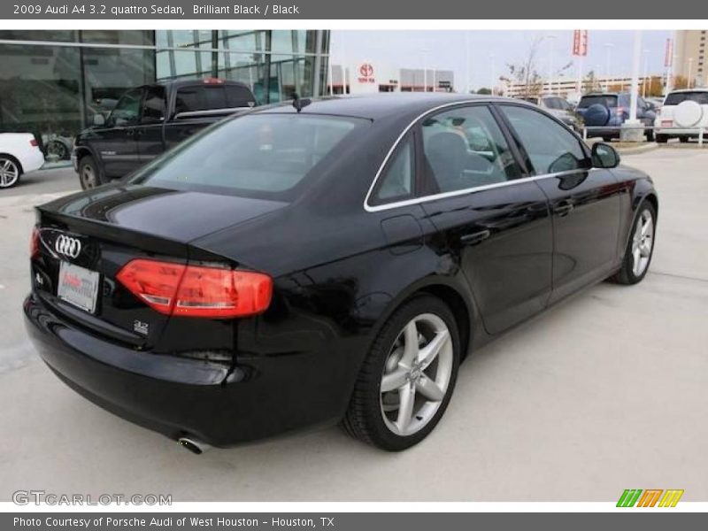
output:
[[[32,205],[71,169],[0,193],[0,501],[17,489],[173,501],[708,499],[708,151],[626,156],[660,195],[642,284],[597,285],[475,353],[435,432],[400,454],[336,427],[195,456],[65,387],[27,342]]]

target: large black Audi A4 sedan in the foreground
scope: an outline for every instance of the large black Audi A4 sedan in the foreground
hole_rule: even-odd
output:
[[[336,422],[404,450],[469,352],[643,279],[658,196],[619,162],[519,100],[260,108],[38,207],[27,328],[70,387],[196,452]]]

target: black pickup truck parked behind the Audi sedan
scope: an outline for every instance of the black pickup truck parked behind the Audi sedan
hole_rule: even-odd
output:
[[[256,105],[248,86],[216,78],[158,82],[128,90],[107,119],[76,136],[73,169],[82,189],[118,179],[197,131]]]

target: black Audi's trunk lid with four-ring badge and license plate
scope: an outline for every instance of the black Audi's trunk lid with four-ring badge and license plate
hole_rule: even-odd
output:
[[[168,320],[133,295],[116,275],[135,258],[237,266],[189,244],[286,204],[238,196],[111,185],[37,208],[35,293],[66,319],[140,349],[158,342]],[[72,289],[74,286],[75,289]]]

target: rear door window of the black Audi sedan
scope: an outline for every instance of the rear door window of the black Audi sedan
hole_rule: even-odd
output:
[[[521,175],[486,106],[459,107],[422,123],[424,183],[429,193],[472,189]]]

